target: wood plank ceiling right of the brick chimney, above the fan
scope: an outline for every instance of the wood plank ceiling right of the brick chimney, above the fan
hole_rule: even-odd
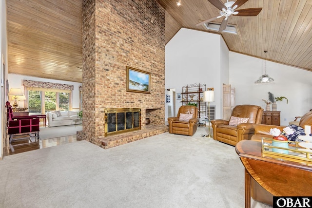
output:
[[[209,32],[195,24],[219,15],[208,0],[158,2],[167,12],[166,43],[181,27]],[[228,23],[238,27],[239,35],[219,33],[229,50],[259,58],[268,51],[267,60],[312,71],[312,0],[248,0],[239,9],[254,7],[263,8],[256,17],[230,17]]]

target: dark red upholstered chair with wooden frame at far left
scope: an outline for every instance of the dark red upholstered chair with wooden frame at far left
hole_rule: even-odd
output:
[[[13,117],[13,111],[10,106],[10,103],[6,103],[7,107],[7,117],[8,117],[8,134],[10,135],[10,143],[13,140],[14,134],[35,134],[35,136],[39,139],[39,118],[37,116],[18,116]]]

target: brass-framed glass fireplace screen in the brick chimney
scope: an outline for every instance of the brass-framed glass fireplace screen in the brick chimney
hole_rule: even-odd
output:
[[[141,109],[105,109],[105,136],[141,129]]]

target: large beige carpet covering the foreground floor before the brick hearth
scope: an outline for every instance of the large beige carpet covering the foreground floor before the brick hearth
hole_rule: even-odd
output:
[[[78,141],[4,157],[0,207],[243,208],[234,147],[201,134],[204,127],[192,137],[167,132],[108,150]]]

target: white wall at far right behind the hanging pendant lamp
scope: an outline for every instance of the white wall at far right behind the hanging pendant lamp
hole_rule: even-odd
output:
[[[277,101],[281,125],[288,125],[295,116],[312,109],[312,72],[266,60],[266,74],[274,81],[254,83],[263,74],[263,59],[230,52],[230,84],[236,90],[236,105],[254,104],[265,109],[262,99],[269,98],[268,92],[275,97],[285,96],[288,104],[286,100]]]

